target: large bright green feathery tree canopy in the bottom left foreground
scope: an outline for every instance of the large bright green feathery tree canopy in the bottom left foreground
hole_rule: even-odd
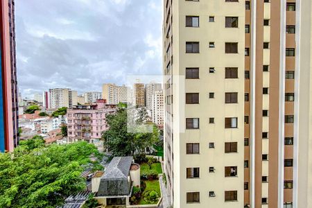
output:
[[[21,141],[13,153],[0,153],[0,207],[58,207],[85,189],[80,176],[89,156],[101,157],[93,144],[44,146],[42,137]]]

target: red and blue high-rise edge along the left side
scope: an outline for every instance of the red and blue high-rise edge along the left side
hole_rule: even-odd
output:
[[[19,107],[15,51],[15,1],[3,0],[0,5],[0,152],[4,152],[12,151],[19,144]]]

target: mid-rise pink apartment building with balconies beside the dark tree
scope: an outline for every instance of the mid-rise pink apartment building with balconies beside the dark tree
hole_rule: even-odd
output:
[[[67,133],[70,141],[76,139],[101,139],[107,130],[106,115],[114,114],[116,105],[106,105],[105,100],[98,100],[91,105],[77,105],[67,110]]]

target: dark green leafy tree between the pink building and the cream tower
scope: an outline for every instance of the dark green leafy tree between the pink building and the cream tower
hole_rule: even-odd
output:
[[[153,126],[153,132],[128,132],[127,112],[123,108],[116,114],[107,115],[106,121],[110,128],[103,132],[102,139],[105,147],[112,153],[112,157],[140,155],[144,153],[145,148],[153,146],[159,139],[157,126],[153,123],[149,123]]]

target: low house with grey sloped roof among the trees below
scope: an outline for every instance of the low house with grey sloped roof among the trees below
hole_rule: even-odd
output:
[[[132,164],[133,157],[114,157],[105,168],[101,180],[92,180],[92,191],[101,205],[130,205],[133,185],[139,186],[139,165]],[[137,168],[133,168],[136,166]]]

